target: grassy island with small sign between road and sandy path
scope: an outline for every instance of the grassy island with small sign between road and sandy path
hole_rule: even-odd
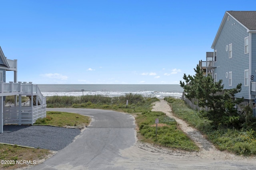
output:
[[[157,136],[155,126],[156,118],[161,123],[159,124],[161,126],[157,128]],[[140,135],[143,136],[142,140],[173,149],[198,151],[199,148],[197,145],[178,129],[177,122],[170,121],[170,119],[165,113],[158,111],[138,114],[136,116],[136,123],[138,124]]]

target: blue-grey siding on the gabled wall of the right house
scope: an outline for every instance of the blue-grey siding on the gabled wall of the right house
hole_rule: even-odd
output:
[[[217,50],[217,61],[214,63],[214,73],[217,81],[222,79],[224,89],[235,88],[242,83],[242,91],[236,97],[249,99],[249,87],[244,86],[244,70],[249,69],[249,54],[244,54],[244,38],[249,36],[246,29],[236,20],[230,17],[224,22],[220,35],[214,46]],[[232,43],[232,58],[229,58],[229,49],[226,45]],[[226,72],[232,72],[232,86],[229,86],[229,78]]]

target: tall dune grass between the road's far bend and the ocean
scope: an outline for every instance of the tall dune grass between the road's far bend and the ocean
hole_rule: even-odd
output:
[[[128,100],[128,106],[126,106]],[[98,109],[123,109],[128,113],[150,110],[152,102],[157,98],[146,98],[140,94],[125,94],[118,97],[107,97],[103,95],[86,96],[50,96],[47,97],[47,107],[82,107]]]

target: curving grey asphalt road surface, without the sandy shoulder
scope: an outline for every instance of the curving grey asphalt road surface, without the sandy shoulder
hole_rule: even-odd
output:
[[[136,142],[131,115],[100,109],[54,108],[47,111],[80,113],[92,117],[94,121],[73,143],[31,170],[106,169],[120,157],[120,150]]]

